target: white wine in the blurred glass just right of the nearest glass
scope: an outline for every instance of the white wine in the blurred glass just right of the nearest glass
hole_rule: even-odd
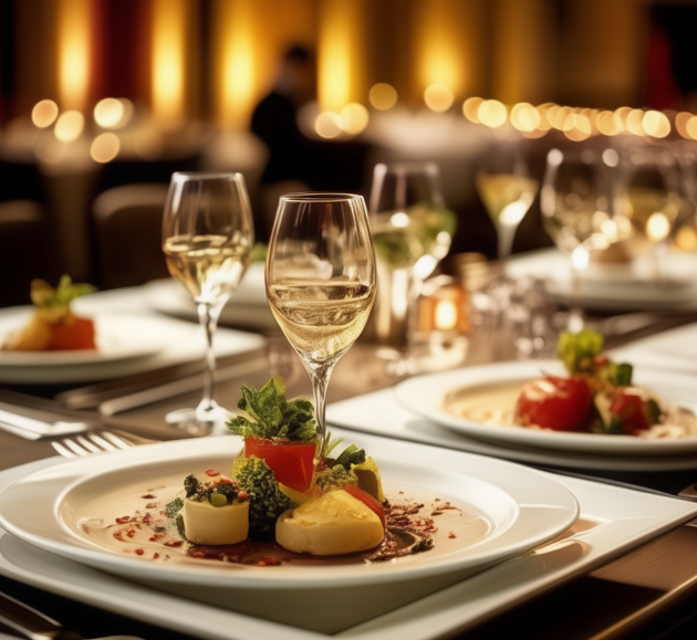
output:
[[[440,260],[450,248],[455,227],[455,213],[443,207],[382,211],[371,220],[375,255],[389,270],[408,269],[426,256]]]

